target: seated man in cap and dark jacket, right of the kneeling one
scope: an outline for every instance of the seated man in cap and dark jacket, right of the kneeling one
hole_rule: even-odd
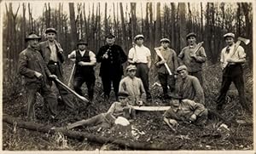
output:
[[[205,105],[205,95],[198,78],[190,76],[187,66],[178,66],[177,94],[182,99],[194,100]]]

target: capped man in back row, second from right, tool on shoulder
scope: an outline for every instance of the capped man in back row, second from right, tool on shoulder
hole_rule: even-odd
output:
[[[203,85],[202,78],[202,64],[207,60],[207,54],[205,48],[201,47],[195,52],[196,47],[196,35],[194,32],[189,33],[186,36],[189,46],[182,49],[180,54],[177,55],[179,65],[185,65],[188,67],[189,75],[195,76],[199,79],[201,85]]]

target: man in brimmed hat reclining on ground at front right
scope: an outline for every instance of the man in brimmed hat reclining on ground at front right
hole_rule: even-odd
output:
[[[208,110],[201,103],[193,100],[181,100],[177,94],[172,95],[171,108],[164,114],[164,121],[175,130],[177,121],[194,123],[204,127],[208,119]]]

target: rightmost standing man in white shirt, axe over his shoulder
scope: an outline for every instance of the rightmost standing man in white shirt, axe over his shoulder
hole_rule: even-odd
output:
[[[241,66],[241,64],[246,62],[246,53],[244,48],[240,46],[241,42],[248,44],[250,40],[238,37],[238,41],[235,43],[235,34],[231,32],[226,33],[224,39],[227,46],[221,51],[220,62],[223,69],[223,80],[217,99],[216,109],[222,109],[230,84],[233,82],[238,90],[241,106],[247,111],[251,111],[247,106],[247,100],[245,98],[243,70]]]

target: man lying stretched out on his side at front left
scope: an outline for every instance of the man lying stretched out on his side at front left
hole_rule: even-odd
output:
[[[81,120],[76,123],[69,124],[67,129],[76,128],[79,126],[97,126],[97,128],[110,128],[117,117],[135,117],[135,111],[127,106],[128,94],[119,92],[119,102],[116,101],[110,106],[107,112],[101,113],[86,120]]]

